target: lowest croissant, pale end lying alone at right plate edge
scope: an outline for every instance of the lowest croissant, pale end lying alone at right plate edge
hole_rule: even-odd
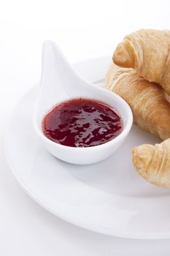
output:
[[[152,146],[137,146],[131,153],[139,175],[160,187],[170,187],[170,139]]]

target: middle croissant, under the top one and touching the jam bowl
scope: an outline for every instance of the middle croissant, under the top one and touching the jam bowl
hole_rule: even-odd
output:
[[[128,102],[134,123],[139,127],[162,140],[170,138],[170,103],[161,86],[144,80],[134,69],[112,63],[106,75],[106,87]]]

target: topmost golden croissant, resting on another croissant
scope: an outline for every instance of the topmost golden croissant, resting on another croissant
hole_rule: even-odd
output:
[[[159,83],[170,95],[170,31],[142,29],[117,45],[113,61],[136,69],[145,79]]]

